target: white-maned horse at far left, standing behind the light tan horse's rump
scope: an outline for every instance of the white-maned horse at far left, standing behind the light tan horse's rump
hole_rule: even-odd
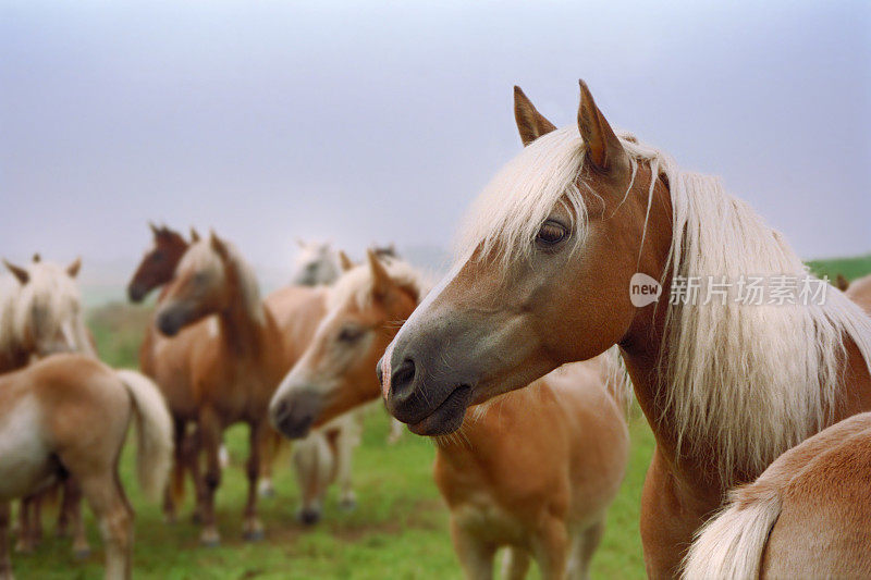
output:
[[[82,260],[64,268],[44,261],[37,254],[26,267],[4,263],[14,281],[3,283],[0,294],[0,372],[21,369],[57,353],[83,353],[96,358],[76,283]],[[32,552],[41,541],[42,495],[22,501],[15,546],[19,552]],[[72,529],[73,552],[86,555],[89,550],[78,496],[76,482],[68,478],[58,533],[65,535]]]

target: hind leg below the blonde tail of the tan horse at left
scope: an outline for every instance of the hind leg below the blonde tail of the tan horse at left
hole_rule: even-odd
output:
[[[106,578],[131,577],[133,510],[113,469],[81,474],[82,493],[97,517],[106,550]]]

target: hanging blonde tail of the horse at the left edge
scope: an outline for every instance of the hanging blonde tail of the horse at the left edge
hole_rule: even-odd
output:
[[[133,399],[136,415],[136,474],[143,491],[157,498],[172,462],[172,418],[157,385],[136,371],[115,371]]]

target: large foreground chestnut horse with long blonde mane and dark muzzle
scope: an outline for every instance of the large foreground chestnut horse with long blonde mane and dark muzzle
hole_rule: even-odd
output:
[[[771,291],[762,305],[733,299],[741,276],[788,289],[809,274],[716,178],[618,137],[582,82],[580,96],[577,124],[557,129],[515,89],[525,148],[484,189],[455,267],[378,372],[394,417],[444,434],[469,405],[617,345],[657,440],[647,571],[676,577],[726,490],[871,409],[871,319],[827,285],[807,305],[771,304]],[[709,276],[734,282],[727,299],[682,294]]]

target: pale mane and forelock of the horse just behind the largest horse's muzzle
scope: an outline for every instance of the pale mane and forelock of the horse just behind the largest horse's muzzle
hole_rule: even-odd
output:
[[[429,276],[410,263],[395,259],[382,259],[381,263],[384,264],[391,280],[412,294],[418,303],[429,292]],[[355,304],[360,309],[370,307],[372,283],[372,270],[368,263],[352,268],[330,288],[327,308],[332,311],[348,303]]]

